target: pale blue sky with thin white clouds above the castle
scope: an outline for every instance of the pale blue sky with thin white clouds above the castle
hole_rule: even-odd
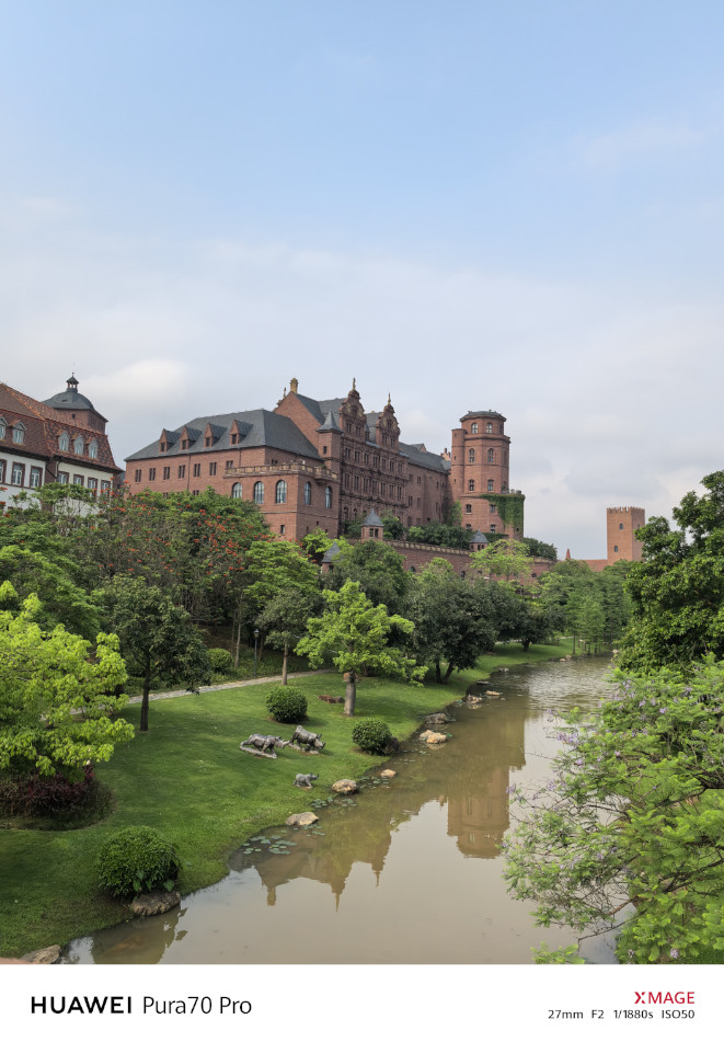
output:
[[[432,451],[507,417],[526,534],[722,467],[724,7],[0,2],[0,379],[116,459],[289,386]]]

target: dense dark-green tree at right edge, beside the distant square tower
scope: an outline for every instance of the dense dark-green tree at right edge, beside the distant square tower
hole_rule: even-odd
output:
[[[631,623],[621,663],[688,666],[711,651],[724,657],[724,471],[702,479],[674,509],[676,527],[653,517],[639,529],[642,560],[631,565]]]

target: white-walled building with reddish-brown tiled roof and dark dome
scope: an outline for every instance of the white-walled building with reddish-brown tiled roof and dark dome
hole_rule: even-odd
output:
[[[106,420],[71,376],[65,391],[46,401],[0,383],[0,509],[18,493],[48,482],[110,492],[116,467]]]

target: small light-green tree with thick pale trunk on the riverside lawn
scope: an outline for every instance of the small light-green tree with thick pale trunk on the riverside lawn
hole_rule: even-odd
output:
[[[399,615],[388,615],[384,605],[374,605],[359,583],[348,580],[342,589],[325,589],[327,609],[320,618],[309,619],[308,633],[297,644],[298,655],[307,655],[313,666],[332,657],[345,675],[345,717],[354,717],[357,698],[357,675],[380,673],[401,676],[411,684],[420,683],[425,668],[415,666],[399,648],[389,646],[393,627],[412,632],[414,623]]]

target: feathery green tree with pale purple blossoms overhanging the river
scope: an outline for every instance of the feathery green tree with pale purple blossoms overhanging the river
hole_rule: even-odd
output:
[[[558,726],[556,781],[515,793],[506,878],[540,925],[618,929],[624,962],[694,961],[724,950],[724,663],[616,683]]]

